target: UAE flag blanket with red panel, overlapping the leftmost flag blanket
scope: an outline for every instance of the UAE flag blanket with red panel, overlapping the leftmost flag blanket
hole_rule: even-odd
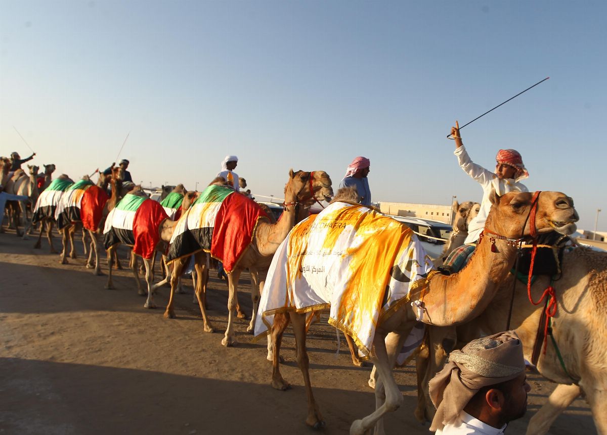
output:
[[[101,187],[86,180],[76,181],[61,196],[55,211],[57,228],[61,230],[71,222],[82,222],[87,230],[97,230],[108,199]]]

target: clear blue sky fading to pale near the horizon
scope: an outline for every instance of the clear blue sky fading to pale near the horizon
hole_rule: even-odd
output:
[[[565,192],[579,228],[598,216],[607,231],[607,2],[0,0],[0,10],[0,155],[30,155],[20,133],[32,163],[56,174],[126,158],[144,187],[202,190],[236,154],[258,199],[282,198],[290,168],[327,171],[336,187],[365,156],[374,202],[480,202],[451,126],[549,76],[463,128],[464,145],[489,170],[500,148],[520,151],[529,190]]]

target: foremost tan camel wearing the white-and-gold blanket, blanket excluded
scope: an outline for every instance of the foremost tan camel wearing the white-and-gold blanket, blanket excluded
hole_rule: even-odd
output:
[[[572,199],[560,192],[542,192],[537,198],[532,193],[511,192],[498,196],[493,192],[490,201],[492,210],[487,218],[485,236],[476,247],[467,267],[450,276],[430,272],[426,278],[422,278],[425,285],[419,285],[411,291],[407,300],[413,301],[412,304],[397,305],[398,308],[390,316],[379,319],[372,338],[372,351],[368,353],[378,375],[375,387],[376,410],[363,419],[355,420],[350,428],[351,435],[362,435],[373,427],[376,434],[384,433],[382,417],[401,405],[402,394],[392,376],[392,368],[404,340],[418,320],[430,325],[452,326],[468,322],[483,313],[514,265],[516,245],[521,238],[527,238],[532,233],[528,219],[530,214],[533,215],[531,221],[535,222],[535,231],[540,234],[553,229],[571,234],[575,231],[574,222],[578,221]],[[284,265],[279,264],[277,267]],[[398,276],[403,275],[402,272],[395,273],[394,269],[387,273],[397,280]],[[269,295],[268,290],[273,289],[266,287],[264,290],[264,295]],[[302,308],[299,313],[295,307],[281,310],[289,314],[296,337],[297,364],[304,375],[308,396],[306,423],[311,427],[322,427],[324,420],[311,390],[309,360],[305,348],[306,319],[303,311],[306,308]],[[271,329],[273,342],[282,334],[284,327],[285,325],[274,322]],[[387,345],[385,337],[388,333],[395,334],[398,339]],[[288,383],[278,371],[273,373],[272,385],[279,390],[288,388]]]

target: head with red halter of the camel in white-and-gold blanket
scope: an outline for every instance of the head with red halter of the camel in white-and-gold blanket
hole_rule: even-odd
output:
[[[491,211],[485,228],[504,237],[518,239],[531,236],[531,207],[534,194],[531,192],[509,192],[498,196],[495,191],[489,196]],[[573,199],[565,193],[545,191],[537,198],[535,228],[538,234],[558,231],[572,234],[579,220]]]

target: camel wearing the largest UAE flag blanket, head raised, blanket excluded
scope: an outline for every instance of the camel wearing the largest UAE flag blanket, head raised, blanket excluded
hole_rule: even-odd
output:
[[[285,211],[280,216],[276,224],[270,224],[267,219],[260,219],[257,222],[256,230],[253,234],[251,244],[245,249],[240,256],[234,270],[228,273],[228,327],[226,328],[225,336],[222,339],[222,344],[226,347],[231,347],[237,344],[236,335],[234,334],[234,311],[238,305],[238,281],[240,274],[245,268],[249,268],[251,272],[251,281],[253,286],[251,289],[251,298],[253,299],[253,316],[249,323],[248,331],[253,331],[255,324],[257,306],[259,305],[260,287],[263,287],[266,273],[270,267],[272,257],[280,243],[287,237],[288,232],[293,228],[299,208],[302,203],[308,202],[311,199],[322,201],[333,196],[331,188],[331,178],[325,171],[289,171],[289,179],[285,185]],[[248,199],[248,201],[253,201]],[[182,216],[184,219],[186,214]],[[212,332],[213,328],[206,319],[205,301],[203,301],[203,283],[208,279],[208,268],[206,268],[206,259],[204,253],[199,251],[195,254],[195,267],[197,272],[197,285],[195,293],[200,306],[200,312],[203,316],[204,330]],[[186,265],[187,259],[177,258],[174,261],[174,270],[171,276],[171,296],[169,303],[164,312],[165,318],[174,318],[175,311],[173,308],[175,287],[177,285],[177,277],[180,276],[181,270]]]

